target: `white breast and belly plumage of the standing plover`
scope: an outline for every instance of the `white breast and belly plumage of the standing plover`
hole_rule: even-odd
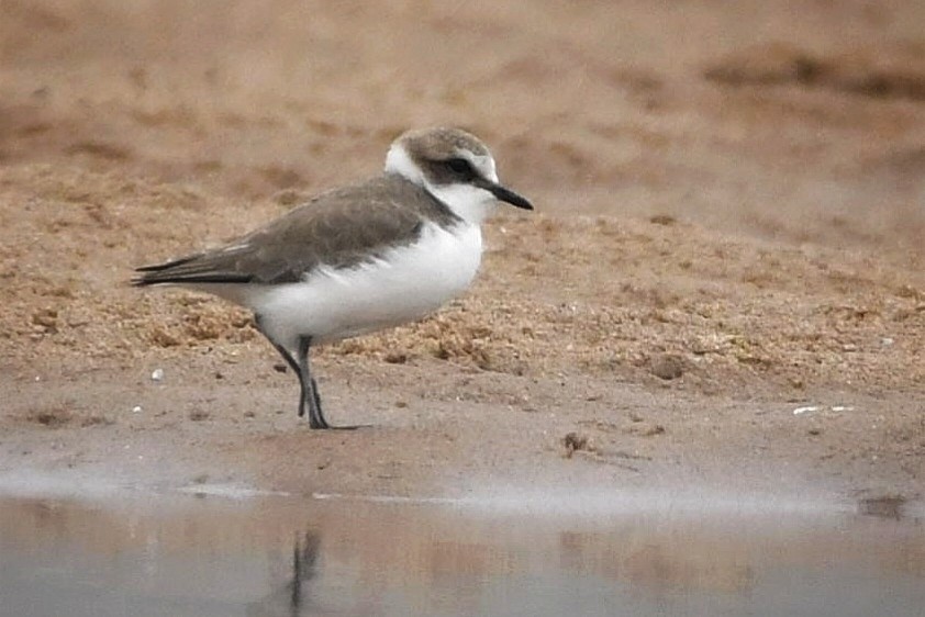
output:
[[[230,298],[261,316],[266,333],[293,348],[300,336],[328,343],[417,319],[465,291],[482,253],[478,225],[422,229],[416,244],[356,268],[319,268],[304,281],[239,288]],[[214,290],[219,295],[230,294]]]

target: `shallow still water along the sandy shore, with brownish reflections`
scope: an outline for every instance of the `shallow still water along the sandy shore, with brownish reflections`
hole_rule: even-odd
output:
[[[223,494],[0,501],[0,614],[925,615],[921,513]]]

